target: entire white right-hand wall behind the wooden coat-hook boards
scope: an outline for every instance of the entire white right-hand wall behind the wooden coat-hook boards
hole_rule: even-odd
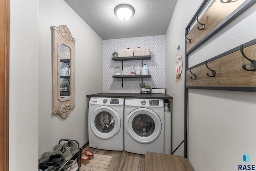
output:
[[[166,65],[174,64],[178,45],[184,58],[185,28],[201,3],[202,0],[178,0],[166,33]],[[255,17],[256,4],[193,52],[189,67],[256,38]],[[174,97],[172,147],[176,147],[177,141],[183,139],[184,82],[176,84],[174,74],[171,75],[166,78],[166,87]],[[246,164],[245,153],[251,155],[247,164],[256,164],[255,95],[255,92],[189,89],[188,159],[196,171],[238,170],[238,165]],[[181,151],[183,147],[176,154],[183,155]]]

